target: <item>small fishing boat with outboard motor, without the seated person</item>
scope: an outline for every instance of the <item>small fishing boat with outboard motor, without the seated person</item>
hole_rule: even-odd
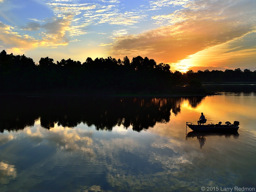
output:
[[[187,126],[193,131],[201,131],[201,132],[237,132],[239,129],[239,121],[234,121],[231,124],[229,121],[225,122],[225,124],[207,124],[207,125],[195,125],[191,122],[186,122]]]

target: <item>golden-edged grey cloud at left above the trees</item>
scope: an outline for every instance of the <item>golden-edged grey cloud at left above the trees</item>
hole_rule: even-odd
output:
[[[68,44],[68,36],[84,34],[79,28],[70,27],[73,19],[72,14],[64,17],[52,17],[44,21],[31,21],[25,27],[20,27],[22,31],[0,22],[0,42],[6,49],[14,53],[22,53],[24,50],[35,47],[58,47]],[[37,31],[35,37],[29,36],[24,31]],[[36,37],[37,36],[37,37]]]

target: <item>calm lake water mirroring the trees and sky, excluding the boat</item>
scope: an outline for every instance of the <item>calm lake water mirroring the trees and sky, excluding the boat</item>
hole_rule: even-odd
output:
[[[0,191],[255,191],[254,92],[0,102]],[[240,128],[186,132],[201,112]]]

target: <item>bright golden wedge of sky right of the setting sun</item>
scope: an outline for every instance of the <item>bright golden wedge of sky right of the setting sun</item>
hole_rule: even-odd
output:
[[[255,37],[256,33],[251,33],[236,41],[210,47],[190,55],[187,59],[179,61],[177,65],[189,65],[187,69],[192,69],[195,72],[216,68],[218,70],[235,68],[255,70]]]

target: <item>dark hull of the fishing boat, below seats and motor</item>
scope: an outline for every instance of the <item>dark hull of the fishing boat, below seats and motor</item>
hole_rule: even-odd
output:
[[[193,125],[188,124],[188,127],[193,131],[202,131],[202,132],[237,132],[239,129],[236,125]]]

